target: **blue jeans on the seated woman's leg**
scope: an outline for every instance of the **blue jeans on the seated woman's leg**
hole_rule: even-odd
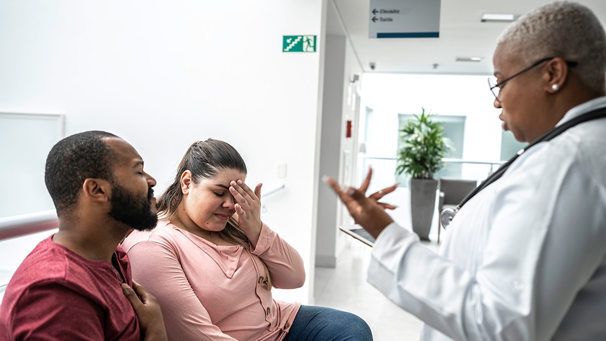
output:
[[[284,341],[371,341],[368,324],[351,312],[302,305]]]

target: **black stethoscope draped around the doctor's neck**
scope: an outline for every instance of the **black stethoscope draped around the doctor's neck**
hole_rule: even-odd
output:
[[[450,225],[450,221],[453,220],[454,215],[456,215],[456,213],[459,212],[459,210],[463,207],[463,205],[465,203],[467,203],[467,201],[469,201],[474,195],[478,194],[479,191],[482,191],[482,189],[485,189],[489,184],[493,183],[496,180],[499,180],[499,178],[502,177],[502,175],[505,173],[507,168],[509,166],[511,166],[511,163],[513,163],[513,161],[515,161],[526,150],[530,149],[530,147],[532,147],[535,144],[538,144],[540,142],[543,142],[543,141],[549,141],[552,138],[560,135],[565,130],[570,129],[571,127],[574,127],[579,123],[584,123],[584,122],[591,121],[591,120],[597,120],[598,118],[604,118],[604,117],[606,117],[605,108],[600,108],[600,109],[590,111],[588,113],[584,113],[581,116],[575,117],[570,121],[562,123],[560,126],[554,127],[553,129],[551,129],[548,132],[541,135],[541,137],[534,140],[532,143],[528,144],[528,146],[520,149],[518,151],[518,153],[513,156],[513,158],[511,158],[506,163],[502,164],[501,167],[499,167],[499,169],[496,170],[496,172],[491,174],[488,178],[486,178],[486,180],[482,181],[482,183],[478,187],[474,188],[473,191],[469,192],[469,194],[465,195],[465,198],[463,198],[463,200],[461,200],[461,203],[459,203],[456,206],[456,208],[444,209],[440,214],[440,222],[442,223],[442,227],[447,228],[447,226]]]

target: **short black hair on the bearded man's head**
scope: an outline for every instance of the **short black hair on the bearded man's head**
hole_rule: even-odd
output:
[[[113,182],[113,150],[105,138],[119,137],[99,130],[76,133],[59,141],[48,153],[44,182],[57,215],[69,211],[76,203],[86,178]]]

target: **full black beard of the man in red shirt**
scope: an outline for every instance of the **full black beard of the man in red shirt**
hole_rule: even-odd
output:
[[[147,198],[128,191],[119,184],[112,184],[112,209],[108,215],[133,229],[150,231],[158,223],[158,216],[151,212],[153,189],[147,192]]]

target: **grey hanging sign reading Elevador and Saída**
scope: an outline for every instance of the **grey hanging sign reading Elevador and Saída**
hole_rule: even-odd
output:
[[[370,0],[368,38],[439,38],[441,0]]]

